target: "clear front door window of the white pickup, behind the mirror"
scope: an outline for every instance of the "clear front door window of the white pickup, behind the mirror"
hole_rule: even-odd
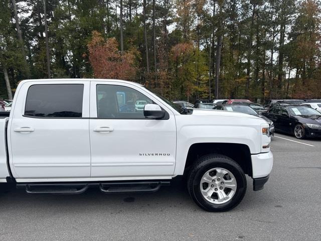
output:
[[[98,118],[144,118],[145,104],[152,103],[139,91],[126,86],[98,84],[96,92]]]

